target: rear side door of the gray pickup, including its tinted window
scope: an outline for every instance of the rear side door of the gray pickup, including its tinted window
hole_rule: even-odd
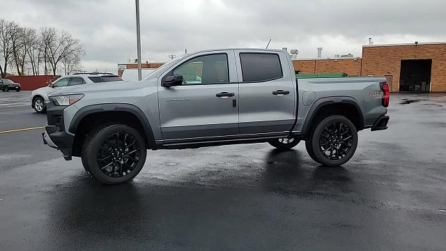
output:
[[[236,51],[240,134],[290,130],[295,119],[295,75],[285,52]],[[282,66],[281,62],[286,62]]]

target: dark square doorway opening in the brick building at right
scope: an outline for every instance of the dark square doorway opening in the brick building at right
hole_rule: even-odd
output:
[[[431,91],[432,59],[401,60],[399,91]]]

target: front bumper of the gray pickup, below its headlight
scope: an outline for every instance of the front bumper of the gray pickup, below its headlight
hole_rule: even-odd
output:
[[[66,107],[55,106],[51,101],[45,102],[47,107],[47,121],[43,132],[43,143],[52,148],[59,149],[65,160],[72,158],[72,144],[75,141],[73,135],[65,132],[63,125],[63,110]]]

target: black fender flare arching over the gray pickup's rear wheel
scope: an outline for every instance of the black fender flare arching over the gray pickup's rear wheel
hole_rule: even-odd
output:
[[[357,113],[360,115],[359,121],[360,121],[360,130],[364,128],[364,115],[362,114],[362,110],[357,105],[357,100],[352,97],[348,96],[337,96],[337,97],[326,97],[326,98],[320,98],[316,100],[312,107],[309,109],[307,118],[305,119],[304,125],[302,127],[302,134],[306,135],[310,126],[312,125],[314,121],[315,115],[318,113],[320,109],[322,109],[325,106],[328,105],[353,105],[355,109],[357,110]]]

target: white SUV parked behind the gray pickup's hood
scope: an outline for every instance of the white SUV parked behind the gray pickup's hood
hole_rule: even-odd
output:
[[[33,109],[38,113],[45,112],[45,101],[48,100],[48,95],[50,93],[54,93],[54,91],[59,91],[66,86],[115,81],[123,81],[123,79],[112,73],[77,73],[74,75],[59,77],[59,79],[52,82],[52,84],[36,89],[31,93],[31,107],[33,107]]]

